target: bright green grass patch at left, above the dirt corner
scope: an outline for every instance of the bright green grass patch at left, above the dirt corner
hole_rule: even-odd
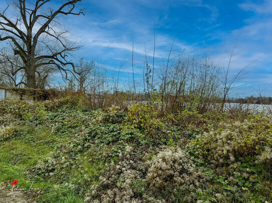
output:
[[[25,106],[28,108],[28,105],[23,105],[23,108]],[[54,113],[52,114],[54,115]],[[55,115],[57,114],[56,112]],[[37,165],[38,160],[48,157],[56,145],[66,143],[70,137],[68,135],[60,136],[56,131],[52,131],[52,126],[44,125],[47,123],[47,118],[42,119],[40,124],[35,125],[31,117],[20,119],[21,115],[18,115],[19,118],[15,117],[13,119],[14,116],[11,114],[5,115],[5,117],[9,116],[12,120],[8,121],[9,118],[7,118],[7,123],[10,123],[9,126],[12,129],[11,139],[0,141],[0,182],[18,180],[20,188],[29,188],[31,183],[26,182],[34,180],[38,183],[34,183],[33,188],[43,188],[45,194],[38,201],[81,203],[82,199],[73,190],[54,188],[54,186],[62,182],[61,180],[48,179],[41,181],[36,179],[31,171]],[[68,115],[65,116],[69,117]]]

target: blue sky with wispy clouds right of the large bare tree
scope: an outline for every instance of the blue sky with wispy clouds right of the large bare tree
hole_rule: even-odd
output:
[[[59,0],[53,1],[58,4]],[[82,0],[77,8],[87,14],[60,18],[70,37],[84,45],[74,56],[94,60],[109,76],[123,82],[132,78],[132,42],[135,77],[142,81],[145,47],[153,55],[156,31],[155,67],[168,57],[204,53],[218,66],[226,66],[239,38],[230,66],[231,73],[255,61],[239,82],[240,96],[256,95],[255,89],[272,96],[272,0]]]

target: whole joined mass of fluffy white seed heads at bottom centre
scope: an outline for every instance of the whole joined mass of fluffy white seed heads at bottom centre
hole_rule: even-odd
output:
[[[164,149],[150,161],[133,156],[135,151],[126,147],[120,154],[121,161],[107,167],[101,182],[86,194],[85,202],[165,203],[160,197],[163,190],[172,191],[170,198],[183,191],[184,198],[191,201],[190,192],[203,187],[208,180],[181,149]]]

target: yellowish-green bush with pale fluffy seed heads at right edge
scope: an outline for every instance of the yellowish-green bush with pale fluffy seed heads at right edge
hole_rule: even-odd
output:
[[[235,156],[259,155],[263,149],[265,150],[259,159],[270,159],[271,147],[267,145],[272,143],[272,128],[269,117],[245,119],[232,124],[222,122],[219,127],[204,133],[199,139],[202,146],[209,150],[209,157],[214,165],[226,162],[231,165],[237,161]]]

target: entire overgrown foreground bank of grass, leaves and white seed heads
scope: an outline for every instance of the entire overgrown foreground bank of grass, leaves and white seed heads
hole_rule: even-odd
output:
[[[0,181],[36,181],[42,203],[272,202],[271,116],[90,107],[2,101]]]

